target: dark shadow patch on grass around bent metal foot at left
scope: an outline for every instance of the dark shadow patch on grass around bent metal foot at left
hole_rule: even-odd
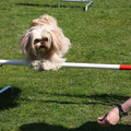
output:
[[[15,99],[19,97],[21,90],[17,87],[12,87],[12,93],[10,90],[7,90],[0,94],[0,110],[10,109],[17,106]]]

